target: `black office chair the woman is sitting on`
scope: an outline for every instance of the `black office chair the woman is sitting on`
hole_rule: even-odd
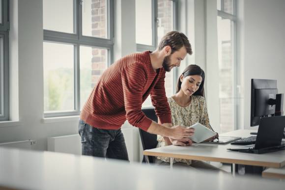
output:
[[[157,122],[157,116],[155,114],[154,109],[142,109],[146,117],[149,119]],[[157,135],[155,134],[150,134],[147,133],[146,131],[143,131],[142,129],[139,128],[140,131],[140,136],[141,136],[141,141],[142,141],[142,149],[152,149],[156,148],[157,146]],[[154,163],[154,157],[153,156],[144,156],[142,159],[142,163],[146,163],[146,159],[148,159],[149,163]]]

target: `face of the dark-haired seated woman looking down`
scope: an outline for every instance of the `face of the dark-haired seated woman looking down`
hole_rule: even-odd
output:
[[[191,96],[199,89],[202,77],[199,75],[189,75],[187,77],[181,75],[180,81],[182,82],[180,90],[182,90],[185,95]]]

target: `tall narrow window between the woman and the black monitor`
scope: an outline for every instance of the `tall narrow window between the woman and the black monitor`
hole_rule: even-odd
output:
[[[221,133],[236,129],[237,62],[235,58],[235,0],[217,0]]]

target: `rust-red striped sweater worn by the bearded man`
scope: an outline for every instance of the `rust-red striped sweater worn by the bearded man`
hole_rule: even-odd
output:
[[[87,124],[117,130],[128,122],[147,131],[152,120],[142,112],[142,103],[150,94],[161,123],[171,123],[171,111],[165,94],[163,68],[153,70],[150,52],[127,55],[112,64],[91,92],[81,119]]]

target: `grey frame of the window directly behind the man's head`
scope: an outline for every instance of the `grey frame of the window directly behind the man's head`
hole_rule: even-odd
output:
[[[170,0],[173,2],[173,30],[178,29],[178,0]],[[137,44],[137,51],[143,52],[143,51],[155,51],[157,48],[157,27],[158,27],[158,0],[152,0],[151,1],[151,7],[152,7],[152,45],[144,45],[144,44]],[[175,92],[175,83],[178,77],[178,69],[173,68],[173,89],[172,92]],[[143,109],[147,109],[151,107],[143,107]]]

